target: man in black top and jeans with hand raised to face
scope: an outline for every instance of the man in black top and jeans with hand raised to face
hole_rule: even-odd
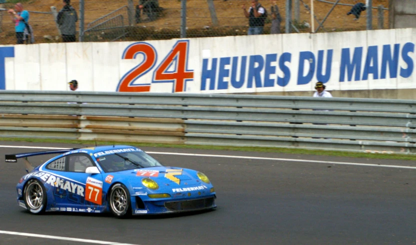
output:
[[[251,0],[251,7],[248,11],[242,5],[244,15],[248,18],[248,35],[259,35],[263,33],[264,20],[267,18],[267,11],[258,3],[258,0]]]

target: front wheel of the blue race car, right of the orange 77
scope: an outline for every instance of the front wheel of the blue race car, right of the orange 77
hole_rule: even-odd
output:
[[[111,187],[108,206],[116,218],[124,219],[131,216],[130,193],[124,185],[117,183]]]

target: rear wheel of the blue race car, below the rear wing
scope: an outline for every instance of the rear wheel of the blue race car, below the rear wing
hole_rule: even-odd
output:
[[[46,190],[38,180],[32,179],[26,183],[23,191],[23,199],[30,213],[39,215],[45,212]]]

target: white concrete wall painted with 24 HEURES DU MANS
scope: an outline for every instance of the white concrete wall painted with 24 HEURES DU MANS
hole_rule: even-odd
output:
[[[137,43],[15,45],[14,57],[4,58],[5,72],[0,74],[0,87],[3,83],[5,89],[12,90],[68,90],[67,82],[76,79],[82,91],[117,91],[117,87],[118,91],[189,93],[313,91],[321,70],[323,80],[320,80],[329,90],[414,89],[415,40],[416,29],[408,28]],[[175,46],[180,51],[173,52],[172,62],[163,62]],[[7,56],[2,54],[4,47],[0,46],[0,60]],[[394,47],[398,47],[396,57]],[[346,63],[351,63],[354,50],[357,65],[354,71],[348,71]],[[388,50],[390,59],[386,55]],[[319,52],[322,62],[318,62]],[[148,55],[144,57],[143,53]],[[155,58],[151,58],[154,54]],[[302,62],[301,55],[305,57]],[[327,63],[328,56],[331,56],[330,63]],[[244,59],[245,67],[241,67]],[[203,71],[203,63],[207,64],[205,70],[210,70],[215,60],[214,81],[203,79],[208,76]],[[396,76],[388,68],[394,62],[397,62]],[[303,71],[299,71],[302,64]],[[330,67],[330,75],[325,79],[326,66]],[[146,69],[140,69],[143,67]],[[175,75],[175,70],[180,74]],[[243,82],[231,83],[232,77],[236,81],[240,79],[241,70]],[[345,70],[344,76],[340,77],[342,70]],[[381,77],[383,70],[385,78]],[[300,78],[309,72],[313,75],[310,79]],[[186,80],[183,88],[181,80]]]

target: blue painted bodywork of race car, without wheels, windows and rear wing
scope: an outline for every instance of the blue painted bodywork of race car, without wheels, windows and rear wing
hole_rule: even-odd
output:
[[[197,177],[197,171],[175,167],[148,167],[105,173],[97,158],[105,154],[121,152],[122,149],[134,149],[131,146],[100,146],[84,148],[65,152],[44,164],[36,167],[24,175],[16,186],[17,204],[24,205],[24,185],[31,179],[40,181],[47,195],[46,211],[102,213],[109,212],[107,194],[110,188],[120,183],[130,194],[131,212],[133,215],[165,214],[173,212],[191,211],[177,210],[176,202],[192,201],[198,199],[215,199],[215,192],[211,183],[204,183]],[[88,155],[100,171],[99,174],[83,172],[65,172],[46,169],[46,165],[62,156],[71,154]],[[96,158],[97,157],[97,158]],[[167,173],[174,172],[174,179],[168,178]],[[170,175],[171,176],[171,175]],[[141,180],[149,178],[158,184],[157,190],[146,188]],[[169,198],[150,198],[149,194],[169,194]],[[174,202],[167,208],[166,202]],[[197,201],[196,201],[197,202]],[[144,204],[144,206],[143,206]],[[212,209],[216,205],[212,202],[209,207],[195,207],[194,210]]]

